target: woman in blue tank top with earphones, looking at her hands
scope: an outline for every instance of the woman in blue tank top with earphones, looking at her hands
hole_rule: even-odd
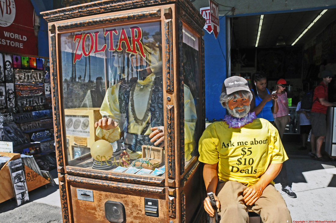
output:
[[[252,95],[251,112],[255,112],[258,118],[268,120],[274,125],[273,114],[278,112],[278,95],[270,94],[266,88],[266,76],[262,73],[256,72],[252,75]]]

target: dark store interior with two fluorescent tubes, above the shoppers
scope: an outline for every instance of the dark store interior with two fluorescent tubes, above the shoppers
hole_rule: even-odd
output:
[[[291,106],[297,105],[301,91],[320,83],[321,71],[336,75],[336,9],[233,16],[231,29],[231,76],[250,79],[262,71],[269,89],[284,78],[290,83]],[[329,101],[336,101],[335,89],[333,80]]]

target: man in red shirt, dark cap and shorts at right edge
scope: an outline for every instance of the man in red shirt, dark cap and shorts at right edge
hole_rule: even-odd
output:
[[[325,162],[326,159],[321,154],[321,147],[327,134],[326,115],[328,106],[336,106],[336,103],[328,101],[328,84],[333,78],[331,71],[323,71],[321,78],[323,80],[315,88],[313,96],[313,105],[311,107],[311,156],[315,160]]]

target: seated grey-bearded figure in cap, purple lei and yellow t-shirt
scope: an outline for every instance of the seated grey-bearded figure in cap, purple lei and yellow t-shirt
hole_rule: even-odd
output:
[[[214,122],[199,141],[207,193],[215,196],[220,223],[248,222],[247,209],[264,223],[292,222],[285,200],[272,181],[288,159],[277,129],[250,111],[251,91],[242,77],[227,78],[220,102],[230,115]],[[204,209],[213,217],[209,197]]]

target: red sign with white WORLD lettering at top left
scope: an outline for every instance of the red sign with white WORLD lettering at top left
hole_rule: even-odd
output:
[[[0,0],[0,51],[38,55],[30,0]]]

